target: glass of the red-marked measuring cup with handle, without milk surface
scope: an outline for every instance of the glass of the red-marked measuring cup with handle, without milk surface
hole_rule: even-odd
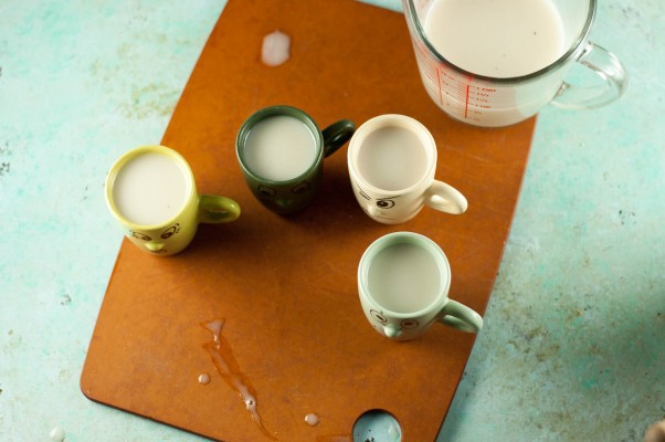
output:
[[[549,103],[564,108],[604,106],[627,86],[625,69],[616,56],[588,41],[595,0],[551,0],[561,18],[563,54],[536,72],[509,77],[466,71],[437,52],[425,34],[425,23],[433,4],[441,1],[455,0],[402,0],[402,6],[425,90],[455,119],[475,126],[508,126],[534,116]],[[468,36],[458,35],[455,44],[468,44]],[[576,63],[597,74],[591,75],[594,81],[584,78],[580,83],[585,84],[579,85],[567,82],[564,77]]]

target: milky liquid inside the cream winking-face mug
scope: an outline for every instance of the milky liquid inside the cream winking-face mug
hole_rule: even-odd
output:
[[[428,154],[413,131],[398,126],[381,127],[362,141],[358,170],[376,188],[402,190],[428,172]]]

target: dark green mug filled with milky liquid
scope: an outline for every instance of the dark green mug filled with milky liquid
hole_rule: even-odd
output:
[[[270,106],[252,114],[235,139],[247,187],[267,209],[289,214],[307,207],[319,187],[324,158],[348,141],[356,126],[341,119],[323,131],[305,112]]]

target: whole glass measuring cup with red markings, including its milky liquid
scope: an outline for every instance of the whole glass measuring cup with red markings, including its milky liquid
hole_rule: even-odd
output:
[[[621,96],[625,69],[588,41],[595,0],[402,0],[421,78],[447,115],[508,126],[549,103],[593,108]],[[595,82],[566,80],[573,65]]]

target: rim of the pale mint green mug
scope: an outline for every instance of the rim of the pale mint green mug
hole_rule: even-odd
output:
[[[387,248],[394,244],[403,243],[421,246],[432,255],[439,267],[441,282],[441,288],[436,294],[434,301],[432,301],[432,303],[430,303],[424,308],[409,313],[394,312],[390,308],[386,308],[371,295],[371,291],[369,290],[369,269],[371,266],[371,261],[378,255],[378,253],[386,250]],[[362,256],[360,257],[360,263],[358,265],[358,286],[360,288],[360,296],[366,298],[374,306],[379,307],[380,311],[387,316],[390,316],[394,319],[423,317],[428,316],[429,314],[437,315],[439,312],[447,304],[450,299],[448,293],[451,288],[451,265],[447,260],[447,256],[445,255],[445,252],[441,249],[441,246],[439,246],[439,244],[436,244],[432,239],[423,234],[408,231],[388,233],[374,240],[362,253]]]

